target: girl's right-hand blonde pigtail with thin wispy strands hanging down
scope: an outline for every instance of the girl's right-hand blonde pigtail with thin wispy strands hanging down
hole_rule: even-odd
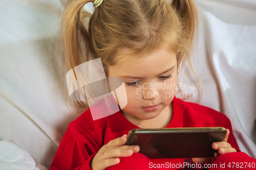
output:
[[[188,62],[189,67],[193,71],[197,81],[201,84],[199,77],[197,76],[190,60],[191,51],[194,50],[193,42],[197,44],[197,38],[195,39],[194,35],[198,35],[198,12],[194,1],[192,0],[173,0],[171,6],[176,10],[176,13],[179,16],[182,25],[182,37],[186,41],[186,52],[187,54],[179,53],[177,55],[178,64],[181,63],[181,67],[183,68],[185,61]],[[181,55],[183,56],[181,58]],[[181,92],[181,89],[179,88]],[[199,91],[199,99],[197,103],[199,103],[202,99],[202,88]]]

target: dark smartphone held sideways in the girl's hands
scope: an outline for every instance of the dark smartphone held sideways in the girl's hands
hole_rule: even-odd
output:
[[[214,157],[213,142],[223,141],[223,127],[133,129],[125,145],[139,145],[150,159]]]

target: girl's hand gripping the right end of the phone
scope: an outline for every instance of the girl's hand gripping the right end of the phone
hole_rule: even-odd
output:
[[[237,152],[236,149],[232,148],[231,145],[227,142],[227,138],[229,135],[229,130],[227,129],[227,133],[223,141],[220,142],[213,142],[211,144],[211,148],[214,150],[218,150],[218,152],[214,153],[214,157],[212,158],[193,158],[193,162],[205,164],[205,163],[212,163],[218,156],[230,153],[230,152]]]

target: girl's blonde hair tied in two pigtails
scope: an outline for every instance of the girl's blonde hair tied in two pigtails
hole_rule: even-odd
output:
[[[68,1],[63,11],[59,37],[69,70],[89,58],[100,58],[108,77],[108,66],[131,56],[153,54],[165,44],[170,52],[177,54],[178,67],[186,60],[190,64],[190,50],[198,26],[197,9],[192,0],[171,3],[164,0],[103,0],[93,14],[83,9],[90,2],[93,1]],[[88,17],[87,29],[84,19]],[[120,55],[118,52],[123,48],[133,53]],[[77,106],[88,107],[82,102],[77,102]]]

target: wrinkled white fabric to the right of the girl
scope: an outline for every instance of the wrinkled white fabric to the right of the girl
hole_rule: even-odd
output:
[[[256,1],[196,1],[198,44],[193,67],[201,105],[226,114],[241,151],[256,157]],[[197,83],[188,66],[181,83]],[[196,89],[188,92],[198,94]],[[193,96],[191,94],[191,96]],[[197,96],[187,101],[197,102]]]

